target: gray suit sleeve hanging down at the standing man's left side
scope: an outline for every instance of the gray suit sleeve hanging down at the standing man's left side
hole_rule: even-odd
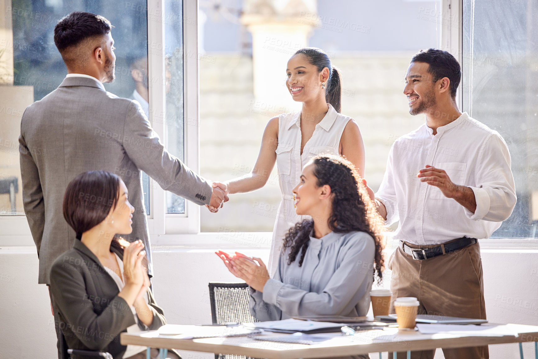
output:
[[[34,243],[36,243],[37,255],[39,257],[41,240],[43,239],[43,230],[45,228],[45,201],[43,200],[43,189],[41,189],[39,171],[24,138],[22,130],[23,122],[24,115],[23,120],[21,121],[21,131],[19,136],[20,179],[23,185],[23,207]]]

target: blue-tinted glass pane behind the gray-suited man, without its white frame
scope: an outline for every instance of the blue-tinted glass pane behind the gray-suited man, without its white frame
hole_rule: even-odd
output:
[[[18,161],[20,118],[28,105],[58,87],[66,74],[54,45],[54,26],[61,17],[76,10],[99,13],[116,24],[112,34],[116,52],[121,55],[116,61],[116,81],[105,87],[118,96],[133,98],[136,82],[132,70],[137,64],[142,67],[145,64],[147,79],[146,1],[89,1],[84,6],[54,0],[2,3],[6,4],[2,9],[6,31],[0,39],[0,81],[4,85],[0,89],[0,109],[3,109],[0,116],[4,122],[0,129],[0,214],[24,215]],[[144,199],[148,212],[149,188],[145,175]]]

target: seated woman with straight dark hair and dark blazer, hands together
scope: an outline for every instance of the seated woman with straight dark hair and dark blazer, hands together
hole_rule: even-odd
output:
[[[67,186],[63,216],[76,240],[52,266],[51,293],[69,349],[143,359],[146,347],[123,346],[119,334],[166,324],[150,290],[144,244],[115,236],[131,233],[133,212],[124,182],[113,173],[84,172]]]

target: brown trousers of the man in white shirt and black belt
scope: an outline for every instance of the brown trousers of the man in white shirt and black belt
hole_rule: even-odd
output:
[[[450,243],[446,242],[444,244]],[[484,281],[480,245],[437,256],[417,260],[400,247],[394,251],[388,262],[392,270],[392,302],[400,297],[416,297],[420,301],[419,314],[461,316],[464,318],[486,319],[484,303]],[[411,248],[432,248],[436,245],[414,245]],[[394,305],[391,304],[391,313]],[[414,351],[413,359],[433,359],[434,350]],[[446,359],[488,359],[487,346],[443,349]],[[398,359],[406,358],[406,353],[398,353]],[[392,353],[388,356],[392,359]]]

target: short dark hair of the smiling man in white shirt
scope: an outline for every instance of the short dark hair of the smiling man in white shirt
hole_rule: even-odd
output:
[[[425,62],[428,64],[428,73],[433,76],[433,82],[448,78],[450,80],[450,95],[452,98],[456,97],[456,90],[458,89],[459,81],[462,79],[462,69],[452,54],[443,50],[429,48],[416,53],[411,62]]]

